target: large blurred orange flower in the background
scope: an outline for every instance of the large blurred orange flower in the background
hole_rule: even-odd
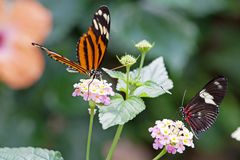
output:
[[[51,13],[39,2],[0,0],[0,81],[22,89],[41,77],[44,59],[31,42],[43,42],[51,27]]]

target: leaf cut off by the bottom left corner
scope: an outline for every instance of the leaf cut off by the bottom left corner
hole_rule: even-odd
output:
[[[42,148],[0,148],[0,160],[63,160],[61,153]]]

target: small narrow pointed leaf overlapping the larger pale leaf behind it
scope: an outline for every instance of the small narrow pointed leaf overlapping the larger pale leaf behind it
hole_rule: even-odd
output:
[[[138,97],[157,97],[159,95],[162,95],[164,93],[169,93],[171,92],[166,91],[164,88],[159,86],[157,83],[153,81],[147,81],[144,83],[144,85],[136,88],[133,92],[133,95],[138,96]]]

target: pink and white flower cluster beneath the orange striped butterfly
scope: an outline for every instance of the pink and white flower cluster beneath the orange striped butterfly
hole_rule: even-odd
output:
[[[106,80],[81,79],[79,83],[73,85],[73,97],[81,96],[85,101],[94,101],[104,105],[110,104],[110,97],[114,96],[112,84]]]

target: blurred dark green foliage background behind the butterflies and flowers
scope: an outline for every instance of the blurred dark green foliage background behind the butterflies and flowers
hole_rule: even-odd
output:
[[[97,8],[105,4],[111,12],[111,32],[102,66],[119,66],[116,55],[121,56],[126,52],[137,57],[134,44],[143,39],[155,42],[145,64],[159,56],[165,58],[169,76],[174,82],[173,94],[144,99],[147,109],[127,123],[123,130],[121,140],[126,143],[119,146],[127,145],[130,149],[124,151],[119,148],[116,153],[120,156],[115,160],[127,160],[121,155],[134,157],[135,154],[144,154],[146,158],[141,158],[146,160],[156,155],[158,151],[152,149],[153,140],[148,128],[158,119],[181,120],[179,107],[184,90],[187,90],[186,104],[218,74],[228,78],[229,89],[215,125],[199,140],[195,140],[194,149],[165,158],[240,159],[240,142],[230,137],[240,126],[239,0],[40,2],[52,12],[54,21],[52,32],[44,45],[64,56],[75,58],[78,38],[87,31]],[[63,65],[49,57],[45,59],[45,72],[31,88],[14,91],[4,84],[0,85],[1,146],[44,147],[59,150],[66,160],[84,159],[88,105],[81,98],[71,96],[72,85],[84,76],[68,73]],[[91,159],[104,159],[115,131],[116,127],[102,130],[95,117]]]

